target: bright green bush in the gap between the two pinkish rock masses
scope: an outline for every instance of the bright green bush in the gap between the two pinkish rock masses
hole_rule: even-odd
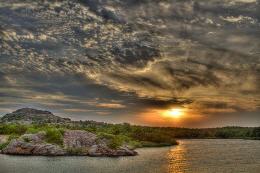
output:
[[[63,145],[63,135],[60,130],[50,128],[46,130],[46,142],[51,144]]]

